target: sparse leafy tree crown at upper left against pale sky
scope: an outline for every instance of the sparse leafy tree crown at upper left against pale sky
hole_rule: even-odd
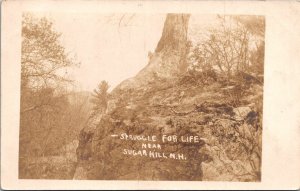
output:
[[[23,15],[22,21],[22,82],[32,88],[58,86],[70,82],[64,75],[67,68],[78,65],[60,42],[61,34],[54,31],[46,18]],[[24,84],[25,83],[25,84]]]

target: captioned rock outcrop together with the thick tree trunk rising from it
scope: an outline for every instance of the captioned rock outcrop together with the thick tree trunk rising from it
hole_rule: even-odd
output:
[[[84,176],[77,179],[260,179],[261,110],[251,103],[261,100],[262,89],[257,84],[247,87],[234,108],[227,99],[234,88],[217,80],[199,86],[186,78],[188,21],[189,15],[167,15],[149,64],[113,90],[95,128],[82,130],[77,174]],[[134,155],[144,142],[121,139],[124,133],[156,136],[156,146],[144,148],[147,156]],[[199,139],[163,142],[164,135]],[[150,151],[177,157],[149,157]]]

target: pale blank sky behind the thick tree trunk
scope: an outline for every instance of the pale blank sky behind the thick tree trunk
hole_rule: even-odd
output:
[[[110,90],[148,64],[163,31],[166,14],[35,13],[53,22],[61,43],[80,62],[68,70],[77,91],[92,91],[106,80]],[[212,24],[216,15],[190,18],[191,36]],[[198,25],[197,25],[198,24]],[[198,26],[198,27],[197,27]],[[200,27],[200,28],[199,28]]]

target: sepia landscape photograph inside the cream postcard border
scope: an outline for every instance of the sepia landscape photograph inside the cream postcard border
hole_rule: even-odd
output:
[[[264,16],[26,12],[21,34],[20,179],[261,180]]]

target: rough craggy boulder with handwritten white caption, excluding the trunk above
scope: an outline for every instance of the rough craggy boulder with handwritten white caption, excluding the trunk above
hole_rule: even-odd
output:
[[[175,84],[158,80],[146,91],[120,94],[118,107],[102,117],[95,131],[82,136],[84,157],[78,156],[87,179],[259,180],[261,127],[256,125],[261,114],[253,107],[230,106],[226,95],[218,92],[217,82],[204,87],[180,84],[180,80]],[[141,148],[139,142],[111,137],[124,132],[198,135],[201,142],[160,143],[164,152],[184,153],[186,161],[151,159],[122,154],[123,149]]]

